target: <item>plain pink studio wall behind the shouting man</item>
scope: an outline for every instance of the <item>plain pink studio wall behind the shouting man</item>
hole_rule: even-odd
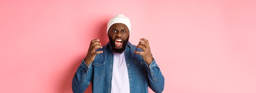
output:
[[[0,0],[0,93],[71,93],[116,14],[150,42],[163,93],[256,93],[255,0]],[[153,93],[150,90],[150,93]],[[91,92],[91,86],[86,92]]]

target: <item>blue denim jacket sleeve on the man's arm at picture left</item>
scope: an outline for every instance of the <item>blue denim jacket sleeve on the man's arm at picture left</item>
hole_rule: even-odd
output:
[[[87,66],[84,60],[82,61],[72,80],[73,93],[83,93],[87,89],[92,79],[91,68],[91,64]]]

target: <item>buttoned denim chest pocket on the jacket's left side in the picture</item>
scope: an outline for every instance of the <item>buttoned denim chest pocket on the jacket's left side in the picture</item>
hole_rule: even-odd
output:
[[[105,61],[94,60],[92,62],[93,78],[102,78],[105,76]]]

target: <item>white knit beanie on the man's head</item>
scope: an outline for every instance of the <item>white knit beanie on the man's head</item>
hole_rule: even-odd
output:
[[[107,27],[107,34],[108,34],[108,30],[109,28],[115,24],[115,23],[122,23],[125,24],[127,26],[127,28],[129,29],[129,34],[131,34],[131,23],[130,23],[130,19],[126,16],[124,16],[123,14],[118,14],[115,15],[113,18],[111,18],[108,21],[108,27]]]

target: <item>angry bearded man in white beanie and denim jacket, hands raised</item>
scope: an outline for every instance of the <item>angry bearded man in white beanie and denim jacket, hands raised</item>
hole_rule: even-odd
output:
[[[74,93],[83,93],[92,82],[93,93],[156,93],[164,90],[164,76],[153,58],[148,40],[137,46],[128,40],[130,19],[119,14],[108,22],[108,44],[92,40],[88,53],[72,80]]]

